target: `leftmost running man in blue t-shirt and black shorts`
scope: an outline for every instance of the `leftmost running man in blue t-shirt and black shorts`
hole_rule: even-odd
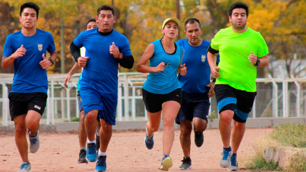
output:
[[[36,29],[39,7],[25,3],[20,7],[20,31],[7,36],[2,67],[14,64],[14,79],[9,94],[11,120],[15,124],[15,141],[22,159],[20,171],[31,171],[28,158],[28,142],[25,133],[29,130],[30,152],[39,148],[39,121],[47,99],[48,80],[46,68],[57,58],[52,34]],[[45,58],[46,51],[50,53]]]

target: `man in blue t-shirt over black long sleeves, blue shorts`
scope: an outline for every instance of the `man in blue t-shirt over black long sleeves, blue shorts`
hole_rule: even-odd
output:
[[[116,107],[118,94],[118,63],[131,69],[134,58],[129,41],[119,32],[113,30],[116,22],[113,7],[100,6],[96,21],[99,27],[83,31],[70,44],[70,52],[83,67],[80,82],[80,94],[85,112],[87,134],[86,159],[97,159],[96,171],[106,170],[106,150],[112,136],[112,125],[116,124]],[[86,57],[81,57],[80,48],[86,48]],[[98,156],[95,151],[95,126],[97,116],[100,118],[100,148]]]

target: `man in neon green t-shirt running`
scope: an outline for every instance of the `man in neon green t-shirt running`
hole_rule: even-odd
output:
[[[227,170],[238,171],[237,151],[256,96],[256,66],[268,65],[269,52],[261,34],[246,27],[246,4],[234,3],[228,12],[232,27],[221,29],[215,35],[208,48],[207,57],[212,76],[217,79],[215,92],[220,113],[219,130],[223,142],[219,164],[221,167],[228,167]],[[218,53],[220,62],[216,66]]]

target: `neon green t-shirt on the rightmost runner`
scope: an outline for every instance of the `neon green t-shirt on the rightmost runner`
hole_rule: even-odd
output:
[[[211,41],[211,47],[219,50],[220,77],[216,84],[230,85],[236,89],[256,92],[257,70],[248,60],[253,52],[257,57],[269,54],[268,46],[259,32],[250,28],[244,33],[232,27],[221,29]]]

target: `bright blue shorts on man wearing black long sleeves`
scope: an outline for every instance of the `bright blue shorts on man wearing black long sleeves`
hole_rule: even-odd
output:
[[[98,118],[110,125],[116,125],[116,108],[118,94],[99,93],[92,88],[81,88],[85,115],[91,110],[99,110]]]

